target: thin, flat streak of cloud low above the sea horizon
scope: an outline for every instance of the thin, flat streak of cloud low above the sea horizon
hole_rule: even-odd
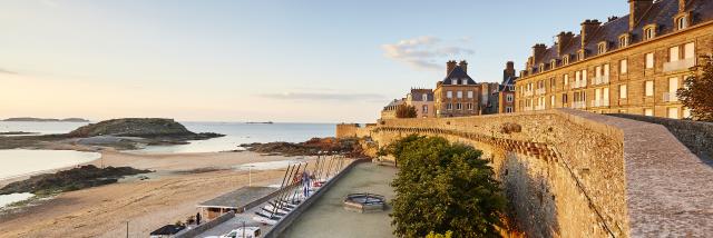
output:
[[[383,95],[377,93],[324,93],[324,92],[285,92],[260,95],[263,98],[280,100],[315,100],[315,101],[373,101],[383,100]]]

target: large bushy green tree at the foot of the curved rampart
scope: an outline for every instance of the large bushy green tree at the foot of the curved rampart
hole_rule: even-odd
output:
[[[399,172],[390,215],[399,237],[429,232],[498,237],[506,200],[481,151],[440,137],[409,136],[387,147]]]

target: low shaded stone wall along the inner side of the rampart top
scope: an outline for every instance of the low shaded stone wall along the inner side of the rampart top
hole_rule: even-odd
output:
[[[713,123],[691,120],[647,117],[641,115],[613,113],[611,116],[646,121],[666,127],[678,141],[699,157],[713,159]]]

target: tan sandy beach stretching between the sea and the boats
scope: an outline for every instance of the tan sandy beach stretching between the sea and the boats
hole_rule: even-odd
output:
[[[64,192],[38,206],[0,216],[0,237],[147,237],[152,230],[195,215],[198,202],[248,184],[235,166],[297,159],[254,152],[135,155],[101,151],[90,162],[150,169],[148,180],[127,180]],[[309,160],[309,159],[305,159]],[[284,169],[253,170],[253,185],[279,184]],[[7,184],[7,181],[0,184]]]

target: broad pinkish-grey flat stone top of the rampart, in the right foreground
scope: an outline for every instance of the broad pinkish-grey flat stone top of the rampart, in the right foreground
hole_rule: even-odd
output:
[[[713,167],[661,125],[561,109],[621,129],[632,237],[713,234]]]

